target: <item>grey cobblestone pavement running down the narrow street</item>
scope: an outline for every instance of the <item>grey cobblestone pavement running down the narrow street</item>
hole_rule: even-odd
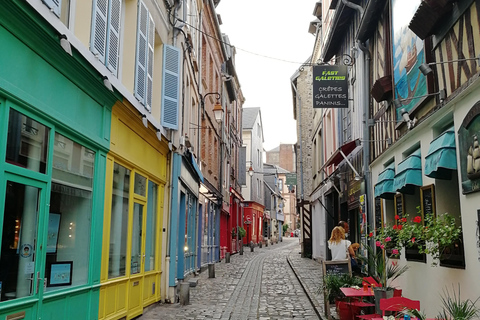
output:
[[[157,303],[137,320],[313,320],[323,313],[323,295],[316,294],[321,265],[301,258],[298,238],[245,248],[230,263],[216,263],[215,278],[206,270],[197,279],[189,305]]]

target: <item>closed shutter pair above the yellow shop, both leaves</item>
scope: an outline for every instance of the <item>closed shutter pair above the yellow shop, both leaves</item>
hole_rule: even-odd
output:
[[[150,111],[152,109],[155,23],[143,1],[139,3],[138,9],[135,97]]]

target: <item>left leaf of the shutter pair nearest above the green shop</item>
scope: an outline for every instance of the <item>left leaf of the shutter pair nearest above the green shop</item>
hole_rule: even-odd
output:
[[[108,0],[94,0],[90,50],[105,63]]]

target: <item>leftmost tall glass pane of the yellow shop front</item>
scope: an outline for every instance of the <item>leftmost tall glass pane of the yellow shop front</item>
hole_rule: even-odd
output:
[[[112,212],[110,215],[108,278],[125,275],[129,193],[130,170],[115,163],[113,167]]]

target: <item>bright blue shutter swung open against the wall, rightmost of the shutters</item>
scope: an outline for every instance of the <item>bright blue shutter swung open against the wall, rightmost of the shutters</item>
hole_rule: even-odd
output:
[[[163,46],[162,126],[178,129],[180,50]]]

